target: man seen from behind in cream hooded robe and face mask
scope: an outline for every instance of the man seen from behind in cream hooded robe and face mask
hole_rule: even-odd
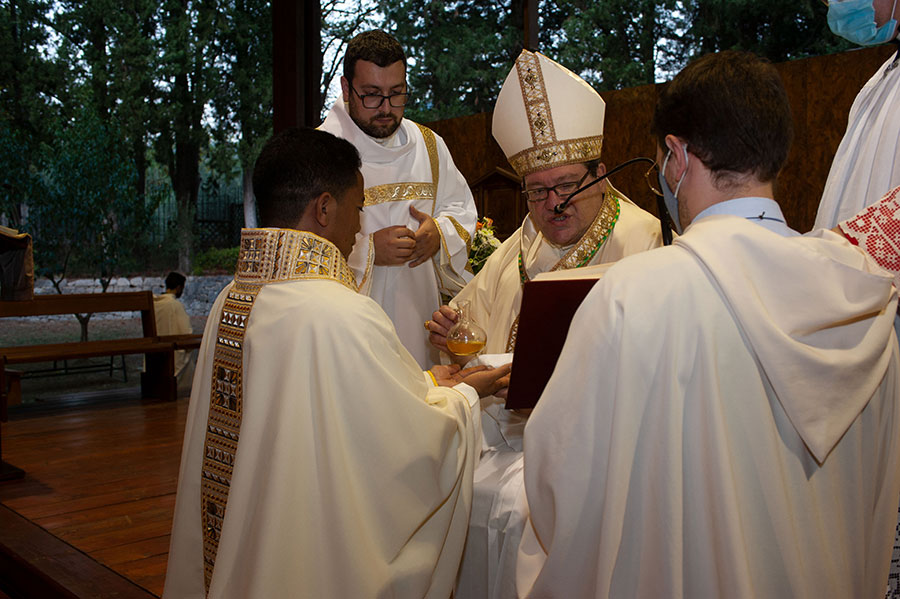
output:
[[[521,596],[883,595],[896,291],[843,237],[784,222],[791,128],[750,54],[707,55],[660,93],[659,182],[685,230],[575,314],[525,429]]]

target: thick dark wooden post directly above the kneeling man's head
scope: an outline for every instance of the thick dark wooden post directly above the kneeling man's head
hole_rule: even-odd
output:
[[[321,122],[322,8],[319,0],[272,2],[272,107],[275,133]]]

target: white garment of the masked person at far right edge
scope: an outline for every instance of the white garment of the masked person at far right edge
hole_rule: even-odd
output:
[[[831,229],[900,185],[900,57],[891,56],[850,108],[816,215]]]

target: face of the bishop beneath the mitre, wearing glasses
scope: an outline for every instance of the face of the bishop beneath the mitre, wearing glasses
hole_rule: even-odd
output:
[[[584,179],[581,185],[587,185],[597,176],[606,172],[602,164],[596,173],[588,174],[587,167],[583,164],[567,164],[557,166],[537,173],[525,176],[525,190],[550,188],[564,183],[577,183]],[[587,175],[587,176],[585,176]],[[606,191],[606,181],[594,185],[574,198],[566,206],[562,214],[556,214],[553,208],[565,200],[555,191],[550,191],[547,198],[537,202],[528,202],[528,212],[538,230],[550,243],[557,246],[569,246],[587,232],[588,227],[594,222],[603,205],[603,194]]]

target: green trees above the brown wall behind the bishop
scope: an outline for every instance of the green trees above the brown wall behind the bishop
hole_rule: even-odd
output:
[[[366,3],[363,3],[366,4]],[[430,121],[490,111],[523,47],[524,0],[378,0],[409,56],[406,114]],[[819,0],[541,0],[538,50],[598,90],[671,78],[701,54],[773,62],[848,49]]]

